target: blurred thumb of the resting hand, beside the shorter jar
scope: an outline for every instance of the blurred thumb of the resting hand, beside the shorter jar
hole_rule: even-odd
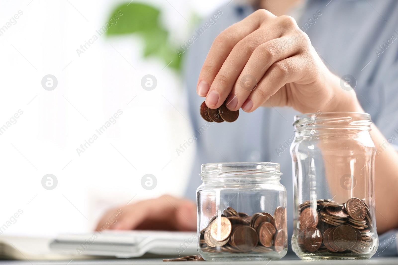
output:
[[[184,201],[177,207],[176,228],[181,231],[196,230],[196,203],[192,201]]]

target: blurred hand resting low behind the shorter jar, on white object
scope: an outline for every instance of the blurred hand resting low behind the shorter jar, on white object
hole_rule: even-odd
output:
[[[115,218],[114,213],[121,214]],[[196,203],[170,195],[139,201],[108,211],[98,222],[96,230],[99,231],[107,222],[109,225],[111,217],[116,221],[109,227],[105,226],[107,229],[195,231]]]

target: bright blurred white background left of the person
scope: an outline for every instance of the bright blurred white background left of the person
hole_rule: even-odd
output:
[[[206,17],[224,1],[143,2],[161,9],[179,46],[194,29],[185,19]],[[23,111],[0,135],[0,226],[23,211],[4,235],[86,232],[106,209],[133,197],[130,203],[183,195],[195,146],[176,153],[192,135],[181,77],[160,60],[144,59],[133,35],[102,35],[80,57],[76,52],[120,3],[2,1],[0,27],[23,12],[0,36],[0,127]],[[53,91],[41,86],[47,74],[58,79]],[[146,74],[158,81],[153,91],[140,85]],[[76,148],[119,109],[116,123],[78,156]],[[54,190],[41,186],[49,173],[58,179]],[[148,173],[158,180],[149,191],[140,184]]]

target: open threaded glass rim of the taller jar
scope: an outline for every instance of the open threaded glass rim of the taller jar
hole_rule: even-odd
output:
[[[317,112],[295,116],[296,130],[306,129],[356,129],[370,130],[371,115],[364,112]]]

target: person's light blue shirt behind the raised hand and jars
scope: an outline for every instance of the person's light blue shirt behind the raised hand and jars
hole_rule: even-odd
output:
[[[280,163],[281,183],[287,188],[290,238],[293,233],[293,171],[289,145],[294,135],[293,116],[298,112],[288,107],[260,107],[252,113],[241,110],[236,122],[206,127],[198,111],[204,98],[196,94],[196,85],[211,44],[224,29],[253,11],[251,6],[238,6],[234,1],[220,7],[198,26],[201,30],[195,31],[197,38],[193,38],[192,44],[185,46],[185,86],[197,136],[197,154],[186,196],[196,198],[196,189],[201,185],[201,164]],[[398,146],[398,1],[308,0],[302,11],[297,24],[310,37],[320,58],[337,76],[355,77],[355,91],[361,106],[371,114],[388,144]],[[222,14],[215,19],[213,15],[220,12]],[[317,19],[314,14],[318,14]],[[396,240],[389,248],[393,250],[389,255],[397,254]]]

